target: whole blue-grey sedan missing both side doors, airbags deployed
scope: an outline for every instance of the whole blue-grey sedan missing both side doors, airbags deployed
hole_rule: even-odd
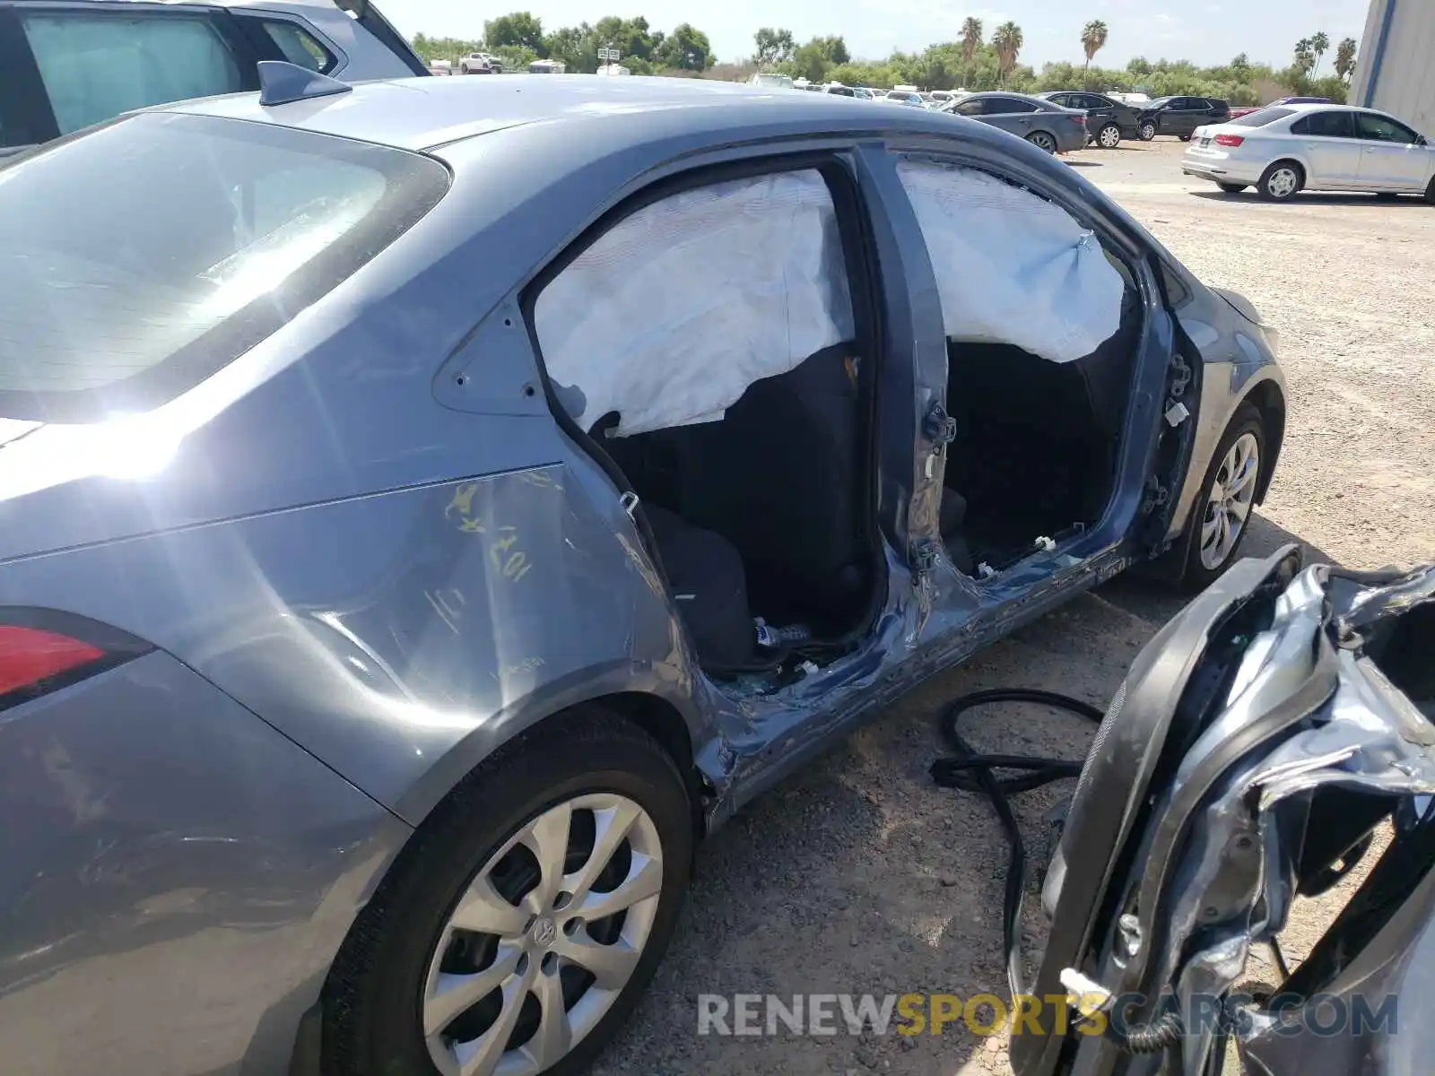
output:
[[[0,182],[7,1073],[581,1072],[742,805],[1238,557],[1269,330],[1032,145],[260,75]]]

